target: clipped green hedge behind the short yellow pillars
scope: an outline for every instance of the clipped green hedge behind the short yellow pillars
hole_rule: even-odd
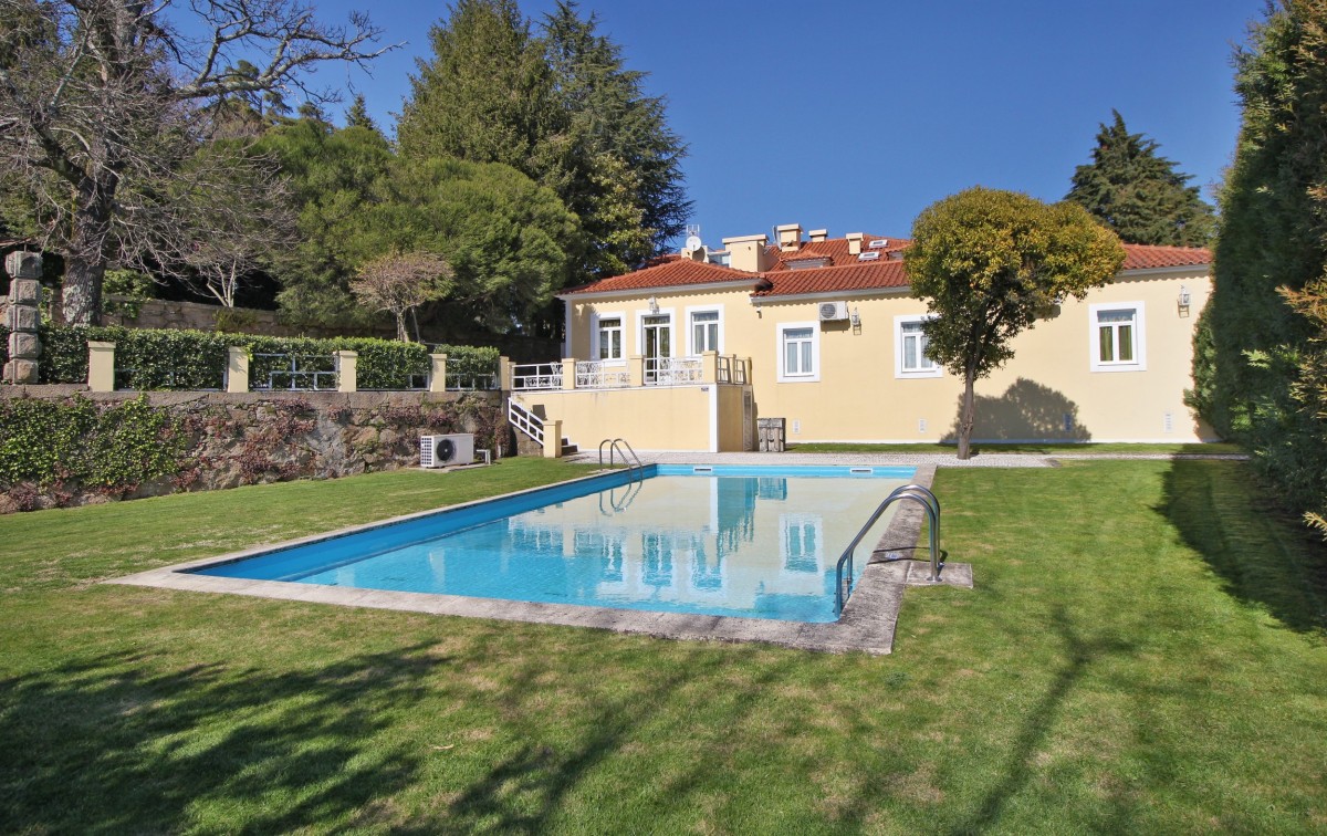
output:
[[[332,353],[358,352],[360,389],[418,387],[429,374],[429,353],[447,354],[449,374],[464,377],[498,373],[498,349],[466,345],[421,345],[394,340],[336,337],[261,337],[202,330],[137,329],[114,326],[45,325],[41,329],[41,382],[82,383],[88,380],[88,342],[115,344],[117,386],[123,389],[220,389],[230,346],[247,348],[251,385],[272,376],[276,387],[289,385],[289,354],[300,356],[301,372],[332,372]],[[281,354],[283,357],[265,357]],[[320,377],[320,385],[330,385]],[[308,378],[300,382],[307,382]]]

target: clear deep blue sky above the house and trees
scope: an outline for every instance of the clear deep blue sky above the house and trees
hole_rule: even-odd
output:
[[[365,9],[384,42],[405,41],[372,77],[318,78],[362,92],[390,133],[447,5],[313,3],[326,21]],[[667,98],[689,145],[693,223],[717,247],[782,223],[905,236],[922,208],[974,184],[1058,200],[1112,107],[1210,199],[1238,130],[1231,50],[1263,5],[584,0],[581,11]],[[522,0],[531,17],[552,8]]]

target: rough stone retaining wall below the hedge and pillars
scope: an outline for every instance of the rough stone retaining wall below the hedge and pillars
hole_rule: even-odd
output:
[[[89,393],[85,386],[0,386],[0,398],[90,398],[110,403],[139,393]],[[161,496],[289,479],[334,479],[419,464],[419,435],[474,433],[494,458],[516,454],[500,393],[199,393],[154,391],[187,433],[180,471],[125,498]],[[0,514],[105,502],[78,484],[0,486]]]

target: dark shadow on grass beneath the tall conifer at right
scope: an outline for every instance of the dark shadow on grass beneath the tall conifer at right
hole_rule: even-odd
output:
[[[1246,463],[1172,462],[1156,512],[1229,594],[1292,630],[1327,632],[1327,545],[1259,491]]]

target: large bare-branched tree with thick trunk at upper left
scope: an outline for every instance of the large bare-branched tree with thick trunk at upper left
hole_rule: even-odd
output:
[[[0,0],[0,166],[35,195],[45,245],[65,256],[70,322],[97,321],[107,263],[161,268],[187,245],[196,222],[182,224],[171,195],[199,176],[180,170],[208,137],[208,105],[289,88],[326,101],[307,70],[385,52],[369,49],[380,31],[364,15],[329,27],[297,0],[191,0],[182,13],[200,19],[200,38],[169,7]],[[194,211],[235,200],[212,196]]]

